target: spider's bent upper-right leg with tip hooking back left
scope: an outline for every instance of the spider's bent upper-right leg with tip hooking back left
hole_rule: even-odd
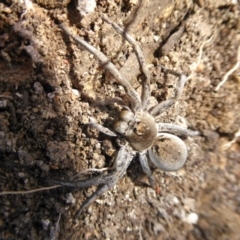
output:
[[[156,105],[153,109],[151,109],[149,111],[149,113],[154,117],[156,117],[156,116],[160,115],[161,113],[163,113],[164,111],[166,111],[168,108],[170,108],[176,102],[176,100],[178,100],[181,97],[183,89],[184,89],[184,85],[185,85],[186,81],[188,80],[187,77],[183,74],[179,74],[175,71],[168,70],[168,69],[165,69],[165,70],[167,70],[169,73],[171,73],[175,76],[178,76],[180,78],[180,81],[177,84],[174,97],[159,103],[158,105]]]

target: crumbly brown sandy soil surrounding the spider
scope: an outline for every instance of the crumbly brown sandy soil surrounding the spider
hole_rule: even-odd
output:
[[[0,3],[0,239],[240,239],[239,68],[216,90],[237,63],[240,6],[233,2],[99,0],[85,16],[70,0]],[[133,48],[101,13],[140,43],[154,101],[170,98],[178,80],[160,64],[192,76],[160,121],[201,135],[185,139],[184,168],[154,171],[157,192],[135,158],[76,223],[94,188],[19,191],[110,166],[118,150],[114,138],[86,124],[93,117],[112,128],[118,113],[106,103],[126,101],[123,87],[59,28],[64,22],[104,52],[139,92]]]

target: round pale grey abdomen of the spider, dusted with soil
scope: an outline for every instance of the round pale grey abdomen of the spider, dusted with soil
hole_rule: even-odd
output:
[[[177,171],[187,160],[188,151],[185,143],[169,133],[158,135],[157,141],[148,150],[152,163],[164,171]]]

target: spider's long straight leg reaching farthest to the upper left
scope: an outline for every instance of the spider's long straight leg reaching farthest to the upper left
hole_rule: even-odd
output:
[[[138,93],[128,82],[128,80],[121,75],[121,73],[116,69],[116,67],[107,58],[107,56],[105,56],[95,47],[84,41],[82,38],[72,34],[65,24],[60,24],[59,26],[67,35],[72,37],[77,43],[81,44],[81,46],[83,46],[87,51],[92,53],[100,61],[101,65],[113,75],[113,77],[117,80],[119,84],[121,84],[124,87],[126,94],[130,98],[132,110],[133,111],[138,110],[141,106],[141,99],[138,96]]]

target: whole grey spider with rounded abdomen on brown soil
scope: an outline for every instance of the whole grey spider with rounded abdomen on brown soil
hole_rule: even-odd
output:
[[[157,116],[171,107],[181,96],[187,77],[183,74],[178,74],[174,71],[165,69],[171,74],[178,76],[180,79],[175,90],[175,96],[149,109],[148,101],[151,95],[150,77],[139,44],[121,27],[111,22],[106,16],[102,15],[101,17],[105,22],[112,25],[112,27],[133,46],[144,79],[142,95],[140,97],[128,80],[120,74],[102,52],[80,37],[73,35],[64,24],[60,24],[61,29],[67,35],[72,37],[77,43],[92,53],[104,68],[113,75],[116,81],[124,87],[130,100],[130,107],[122,107],[119,119],[114,125],[114,131],[103,127],[100,124],[94,122],[90,123],[91,126],[97,128],[106,135],[121,139],[121,141],[119,141],[120,149],[116,154],[113,168],[109,168],[108,171],[99,176],[85,180],[47,180],[50,183],[80,189],[97,186],[97,190],[82,203],[80,209],[76,213],[76,218],[78,218],[83,210],[94,202],[96,198],[109,188],[113,187],[123,177],[136,154],[138,154],[142,169],[148,176],[151,186],[154,187],[155,180],[152,176],[148,161],[151,161],[157,168],[163,171],[176,171],[180,169],[186,162],[188,151],[185,143],[178,136],[198,135],[197,131],[191,131],[171,123],[159,123],[155,120]]]

